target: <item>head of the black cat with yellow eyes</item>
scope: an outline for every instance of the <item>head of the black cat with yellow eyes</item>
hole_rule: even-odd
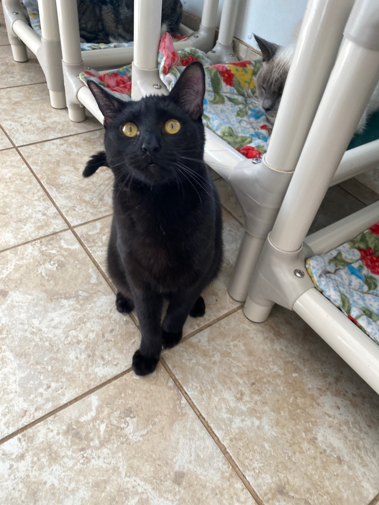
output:
[[[124,102],[91,81],[88,87],[104,115],[107,161],[120,182],[130,176],[150,185],[175,182],[195,160],[203,160],[205,75],[200,63],[188,65],[168,95],[138,102]]]

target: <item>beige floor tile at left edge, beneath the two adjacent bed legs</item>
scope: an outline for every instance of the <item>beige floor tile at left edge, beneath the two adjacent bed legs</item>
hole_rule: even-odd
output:
[[[12,107],[9,107],[12,104]],[[53,109],[46,84],[0,89],[1,123],[16,145],[100,128],[99,121],[69,120],[67,109]],[[92,154],[92,153],[91,153]]]

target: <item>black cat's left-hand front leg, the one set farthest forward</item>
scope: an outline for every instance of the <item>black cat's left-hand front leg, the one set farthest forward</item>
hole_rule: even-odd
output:
[[[147,375],[157,367],[162,349],[162,297],[155,293],[135,293],[134,304],[137,312],[141,343],[134,352],[132,367],[136,375]]]

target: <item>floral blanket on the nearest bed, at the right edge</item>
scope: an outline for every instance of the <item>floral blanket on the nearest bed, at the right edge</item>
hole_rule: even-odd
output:
[[[316,288],[379,345],[379,223],[306,266]]]

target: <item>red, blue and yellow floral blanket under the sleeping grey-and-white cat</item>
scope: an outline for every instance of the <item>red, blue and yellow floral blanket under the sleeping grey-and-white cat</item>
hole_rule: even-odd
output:
[[[247,158],[261,158],[271,134],[255,95],[255,79],[262,61],[213,65],[199,49],[191,47],[177,52],[171,36],[162,34],[157,65],[169,90],[183,69],[196,60],[203,64],[206,75],[204,125]],[[83,82],[88,78],[121,99],[130,99],[131,65],[101,75],[93,70],[80,74]]]

